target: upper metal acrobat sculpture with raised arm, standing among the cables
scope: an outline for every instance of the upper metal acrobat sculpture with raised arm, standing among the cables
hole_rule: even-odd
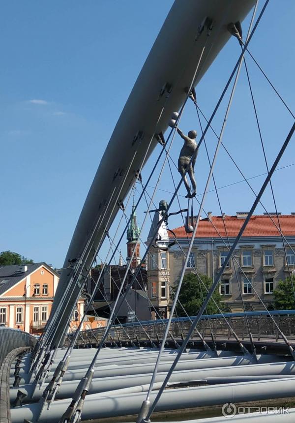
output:
[[[180,137],[184,140],[184,145],[182,149],[180,150],[179,158],[178,158],[178,172],[181,176],[184,175],[183,182],[185,185],[185,188],[187,190],[186,198],[193,198],[197,194],[197,184],[195,180],[195,163],[196,163],[196,157],[197,154],[194,156],[192,162],[191,158],[194,155],[195,151],[197,150],[197,131],[189,131],[189,133],[186,135],[183,134],[183,132],[177,128],[177,132],[180,135]],[[189,179],[192,182],[193,186],[193,193],[191,194],[189,183],[186,178],[185,172],[187,171]]]

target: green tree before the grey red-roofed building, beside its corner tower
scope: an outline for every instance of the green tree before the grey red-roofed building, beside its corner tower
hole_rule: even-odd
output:
[[[204,302],[204,299],[207,295],[207,290],[209,290],[212,285],[212,279],[206,275],[200,275],[203,283],[199,280],[198,276],[194,273],[187,273],[184,275],[183,282],[180,288],[179,301],[185,308],[185,311],[189,316],[195,316],[201,308],[201,305]],[[205,286],[206,288],[205,288]],[[216,304],[221,308],[221,295],[219,294],[218,289],[215,289],[212,298],[215,300]],[[183,308],[177,302],[176,311],[178,316],[185,316]],[[218,307],[210,299],[207,305],[208,314],[219,313]]]

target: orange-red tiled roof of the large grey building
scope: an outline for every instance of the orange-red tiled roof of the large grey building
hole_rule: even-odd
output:
[[[278,226],[276,215],[271,216]],[[221,216],[211,216],[211,221],[206,218],[199,222],[196,238],[215,238],[226,237],[224,222]],[[295,214],[282,214],[279,216],[280,225],[283,235],[295,236]],[[225,226],[229,237],[236,237],[244,222],[243,218],[236,216],[224,216]],[[216,229],[215,229],[215,228]],[[218,234],[218,232],[219,234]],[[184,226],[173,229],[177,238],[191,238],[192,234],[185,232]],[[243,237],[276,237],[280,236],[280,232],[267,215],[256,215],[250,218],[248,225],[243,233]]]

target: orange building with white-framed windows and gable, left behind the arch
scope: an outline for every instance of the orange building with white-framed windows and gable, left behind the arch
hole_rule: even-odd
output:
[[[59,273],[46,263],[0,267],[0,325],[40,335],[49,318]],[[69,331],[75,331],[84,314],[85,299],[75,305]],[[100,325],[86,319],[83,329]]]

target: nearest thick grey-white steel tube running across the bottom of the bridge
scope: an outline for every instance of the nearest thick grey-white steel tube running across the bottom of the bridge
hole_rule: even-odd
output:
[[[228,371],[228,369],[227,369]],[[295,377],[270,379],[266,381],[251,381],[242,383],[231,383],[223,385],[177,388],[164,391],[155,411],[170,411],[185,408],[208,407],[221,405],[229,402],[249,402],[272,398],[286,398],[294,396]],[[159,384],[155,385],[159,389]],[[86,396],[82,413],[82,420],[110,418],[118,416],[136,415],[146,398],[142,392],[146,386],[131,389],[132,392],[124,390],[111,391],[109,393],[95,393]],[[136,392],[137,391],[137,392]],[[157,391],[151,393],[153,401]],[[44,407],[39,418],[40,422],[58,422],[60,416],[65,412],[71,398],[61,399],[51,404],[51,407]],[[11,410],[13,423],[23,423],[24,419],[35,421],[40,412],[39,403],[26,404],[22,407],[15,407]],[[278,419],[278,415],[276,418]],[[284,418],[286,416],[284,415]],[[269,415],[267,416],[269,419]],[[293,414],[294,418],[294,414]],[[219,418],[220,419],[220,418]],[[269,420],[267,420],[268,422]],[[276,420],[279,421],[279,420]],[[289,420],[290,421],[290,420]],[[261,420],[259,421],[261,423]],[[286,420],[284,420],[284,423]],[[288,422],[288,421],[287,421]]]

